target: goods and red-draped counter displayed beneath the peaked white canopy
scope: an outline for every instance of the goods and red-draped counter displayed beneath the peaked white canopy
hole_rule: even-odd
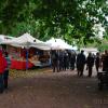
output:
[[[26,49],[8,46],[8,52],[12,60],[12,69],[26,69]],[[36,48],[28,50],[28,68],[33,66],[43,67],[50,65],[50,51],[43,51]]]

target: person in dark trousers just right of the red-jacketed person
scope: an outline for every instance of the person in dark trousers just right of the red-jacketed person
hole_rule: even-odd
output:
[[[5,70],[4,70],[4,73],[3,73],[3,80],[4,80],[4,89],[8,89],[9,68],[10,68],[10,65],[11,65],[11,59],[9,57],[9,53],[8,52],[4,52],[4,56],[5,56],[8,66],[6,66]]]

